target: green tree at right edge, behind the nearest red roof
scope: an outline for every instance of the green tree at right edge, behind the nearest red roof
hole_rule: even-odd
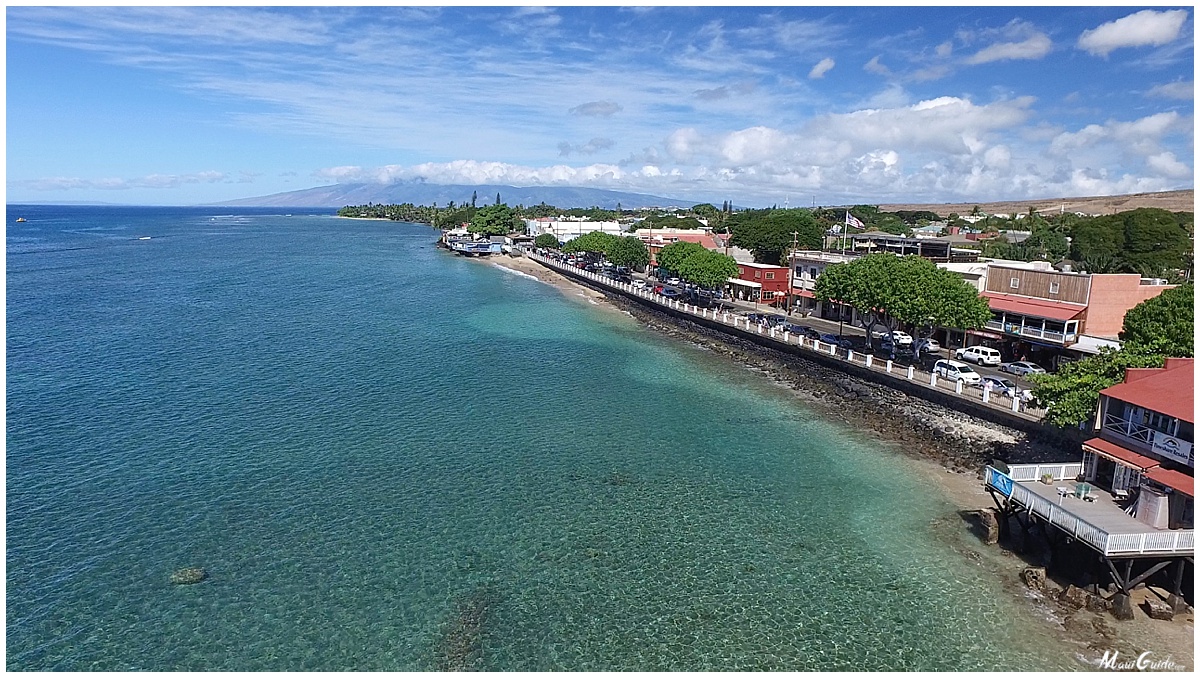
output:
[[[1168,358],[1192,358],[1195,341],[1195,298],[1192,283],[1164,290],[1126,313],[1121,341]]]

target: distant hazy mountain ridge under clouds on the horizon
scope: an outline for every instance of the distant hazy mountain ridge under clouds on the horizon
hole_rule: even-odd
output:
[[[262,208],[342,208],[346,205],[403,204],[445,206],[451,200],[455,204],[470,204],[475,193],[479,206],[496,203],[496,194],[508,205],[538,205],[546,203],[556,208],[604,208],[612,210],[619,203],[623,209],[640,208],[690,208],[697,200],[664,198],[641,193],[623,193],[600,188],[575,188],[569,186],[461,186],[446,184],[401,182],[401,184],[335,184],[318,186],[302,191],[289,191],[258,198],[242,198],[217,203],[229,206]]]

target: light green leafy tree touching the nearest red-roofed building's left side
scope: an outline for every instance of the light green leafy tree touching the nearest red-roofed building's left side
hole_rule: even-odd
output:
[[[1096,416],[1100,391],[1123,380],[1127,367],[1162,366],[1162,355],[1105,348],[1099,355],[1067,362],[1054,374],[1031,374],[1033,402],[1046,408],[1045,421],[1075,427]]]

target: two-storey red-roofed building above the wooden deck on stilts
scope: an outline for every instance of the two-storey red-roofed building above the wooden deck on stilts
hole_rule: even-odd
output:
[[[1138,493],[1139,520],[1158,528],[1193,526],[1194,370],[1190,358],[1127,370],[1123,383],[1100,391],[1097,437],[1084,443],[1085,480],[1114,494]]]

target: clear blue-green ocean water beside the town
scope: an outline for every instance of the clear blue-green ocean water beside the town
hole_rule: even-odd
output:
[[[6,235],[10,670],[1072,667],[894,451],[427,227]]]

